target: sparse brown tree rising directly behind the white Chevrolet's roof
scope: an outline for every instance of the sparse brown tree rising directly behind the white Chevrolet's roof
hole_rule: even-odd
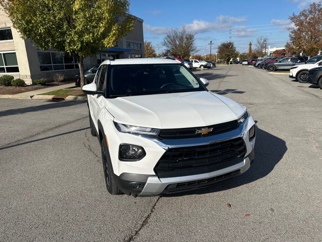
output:
[[[163,45],[170,50],[171,55],[189,58],[197,51],[195,34],[189,32],[185,26],[182,29],[171,29],[167,32]]]

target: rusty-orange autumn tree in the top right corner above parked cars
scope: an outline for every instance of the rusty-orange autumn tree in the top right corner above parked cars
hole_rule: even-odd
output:
[[[322,49],[322,3],[312,3],[308,9],[290,18],[295,27],[290,28],[292,44],[305,55],[315,55]]]

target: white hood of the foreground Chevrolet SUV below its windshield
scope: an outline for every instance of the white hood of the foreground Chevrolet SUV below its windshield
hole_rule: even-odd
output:
[[[141,127],[202,127],[240,117],[246,107],[207,91],[129,96],[108,99],[114,121]]]

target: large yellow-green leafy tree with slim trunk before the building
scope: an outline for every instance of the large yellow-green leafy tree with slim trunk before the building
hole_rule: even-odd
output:
[[[115,45],[132,31],[129,1],[2,0],[14,28],[40,49],[52,48],[74,56],[84,85],[84,58]]]

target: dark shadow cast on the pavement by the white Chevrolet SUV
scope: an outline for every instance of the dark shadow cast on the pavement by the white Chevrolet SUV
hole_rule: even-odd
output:
[[[255,159],[248,171],[231,179],[221,181],[208,188],[164,196],[177,197],[215,193],[253,183],[268,175],[274,169],[275,165],[283,158],[286,151],[287,146],[284,140],[257,128]]]

